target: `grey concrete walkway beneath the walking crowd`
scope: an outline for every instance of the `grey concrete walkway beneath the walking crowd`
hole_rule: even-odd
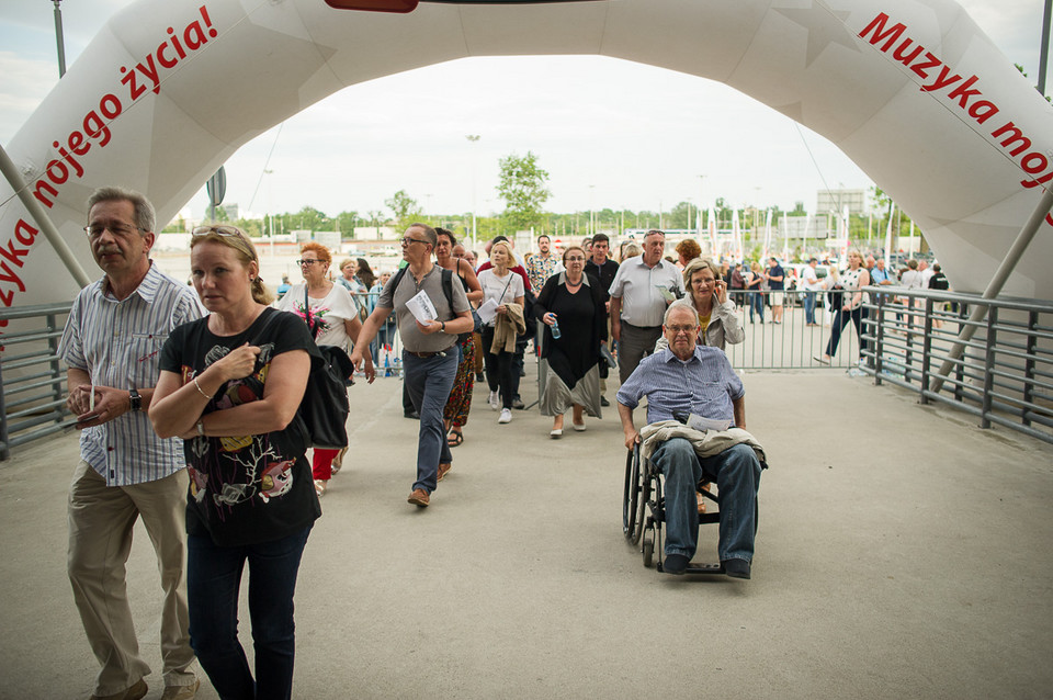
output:
[[[771,459],[749,582],[644,568],[621,532],[613,410],[552,441],[536,411],[498,426],[477,387],[418,510],[399,382],[355,385],[349,466],[299,574],[295,697],[1049,697],[1053,450],[840,371],[745,382]],[[69,434],[0,464],[0,698],[91,689],[65,573],[77,453]],[[136,537],[156,699],[159,587]],[[703,543],[712,561],[715,527]],[[199,697],[216,697],[204,678]]]

